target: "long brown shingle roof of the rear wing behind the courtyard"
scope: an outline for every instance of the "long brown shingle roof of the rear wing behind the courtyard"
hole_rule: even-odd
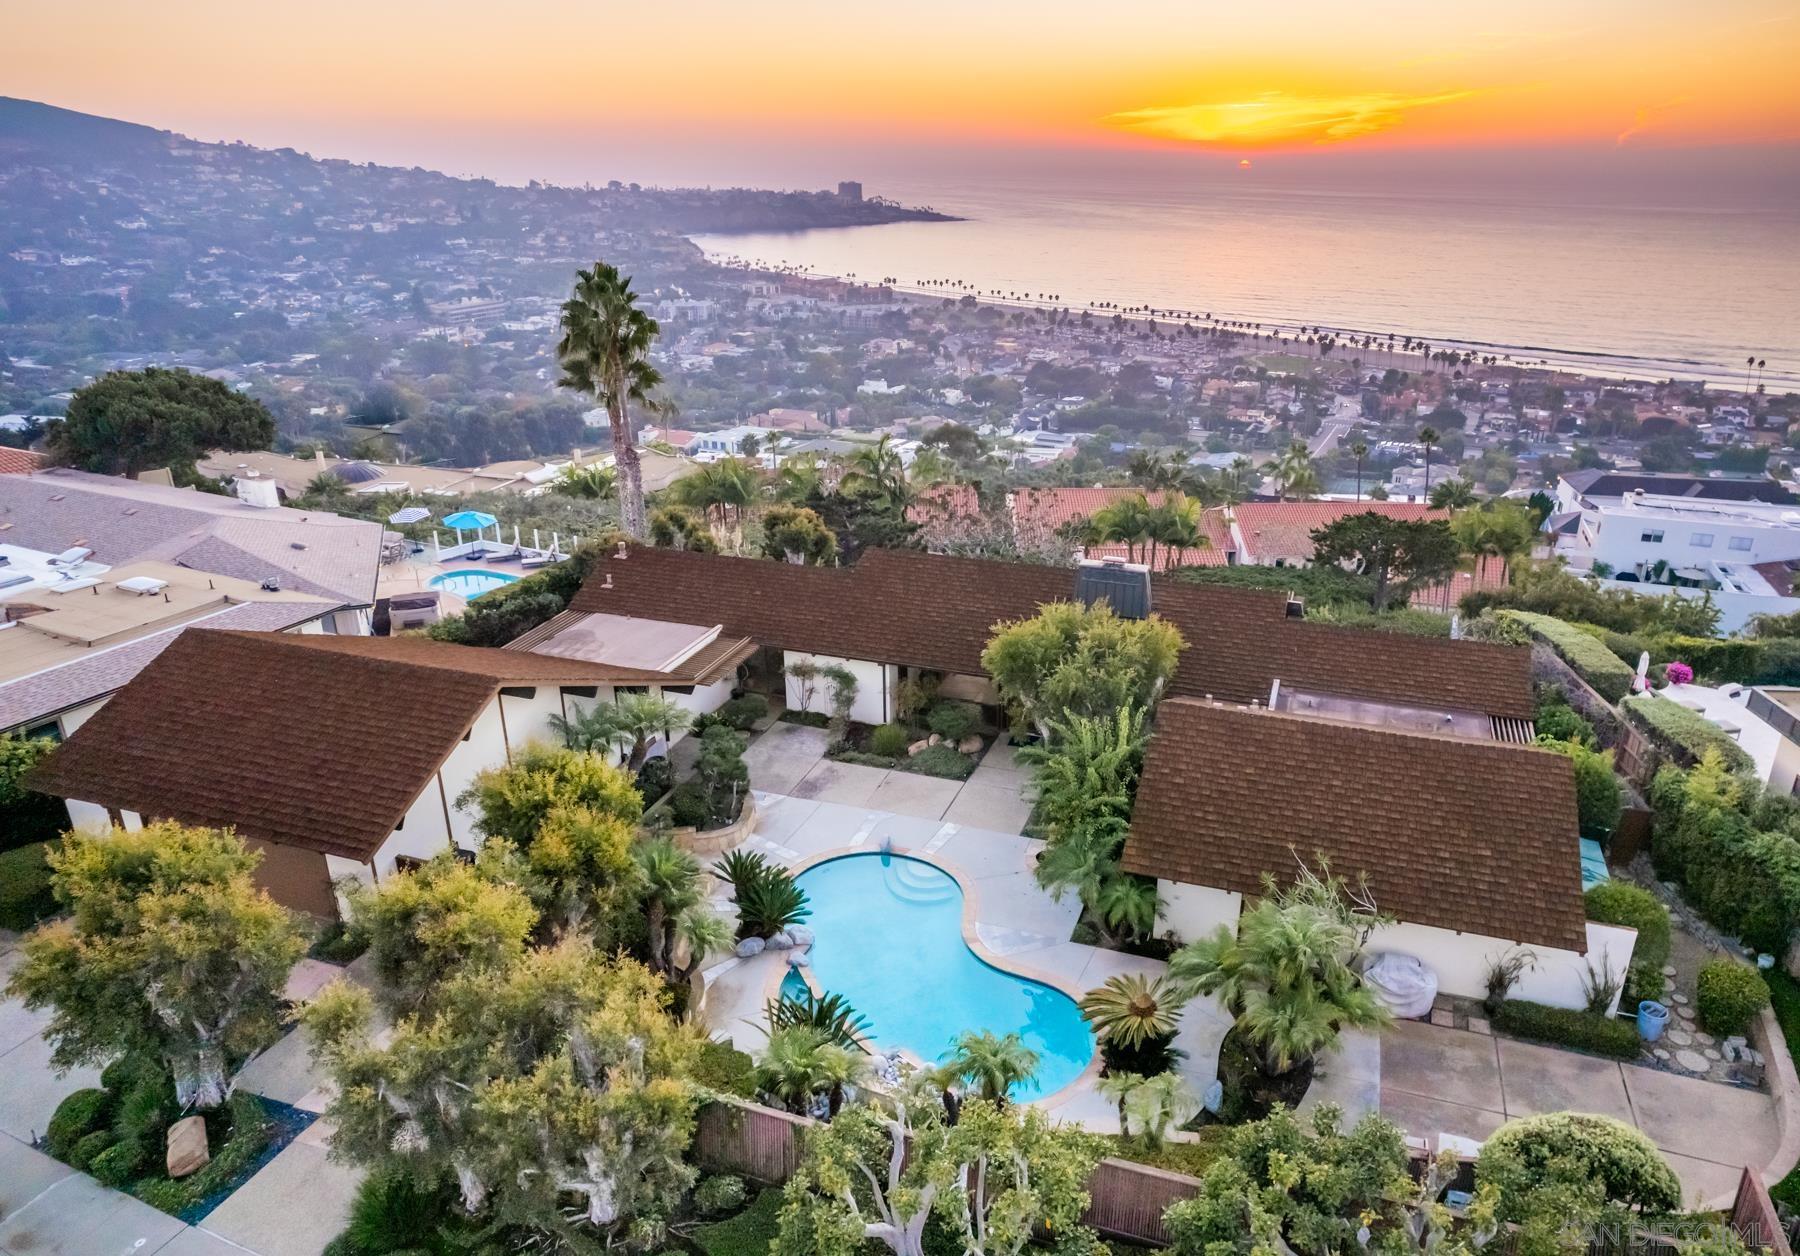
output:
[[[1073,590],[1066,567],[916,551],[873,549],[855,567],[794,567],[634,547],[625,560],[598,560],[571,606],[716,623],[783,650],[981,675],[995,623],[1033,615]],[[1161,576],[1152,601],[1188,641],[1175,695],[1265,702],[1280,678],[1352,698],[1532,714],[1525,650],[1287,619],[1280,594]]]

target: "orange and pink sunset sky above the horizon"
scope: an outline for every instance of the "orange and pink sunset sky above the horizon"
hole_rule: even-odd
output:
[[[783,153],[1800,146],[1793,0],[0,0],[0,94],[522,180]],[[774,167],[772,167],[774,169]]]

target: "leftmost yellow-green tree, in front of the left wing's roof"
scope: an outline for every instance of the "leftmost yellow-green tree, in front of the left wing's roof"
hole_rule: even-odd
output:
[[[306,950],[229,830],[158,822],[70,833],[49,855],[65,920],[27,936],[9,993],[50,1011],[58,1069],[162,1060],[182,1107],[225,1103],[230,1072],[281,1036]]]

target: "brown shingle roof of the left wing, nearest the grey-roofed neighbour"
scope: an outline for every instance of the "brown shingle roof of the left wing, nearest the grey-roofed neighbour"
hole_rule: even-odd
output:
[[[184,632],[32,788],[369,860],[508,684],[594,684],[594,668],[418,637]]]

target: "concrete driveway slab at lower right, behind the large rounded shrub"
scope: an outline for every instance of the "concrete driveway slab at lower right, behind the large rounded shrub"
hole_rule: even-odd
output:
[[[1481,1141],[1508,1117],[1598,1112],[1643,1130],[1688,1202],[1730,1202],[1744,1166],[1780,1144],[1760,1090],[1618,1063],[1532,1042],[1400,1020],[1381,1038],[1381,1110],[1417,1137]]]

